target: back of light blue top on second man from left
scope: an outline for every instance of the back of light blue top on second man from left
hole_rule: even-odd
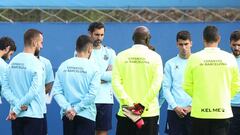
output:
[[[31,53],[19,53],[9,63],[7,70],[8,83],[12,93],[26,100],[29,109],[21,116],[42,117],[45,111],[44,101],[44,68],[41,62]]]

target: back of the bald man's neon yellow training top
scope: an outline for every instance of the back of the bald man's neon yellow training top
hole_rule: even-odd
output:
[[[160,89],[162,81],[161,57],[144,45],[134,45],[132,48],[120,52],[113,68],[117,68],[126,94],[136,103],[143,102],[142,100],[150,91],[153,94],[154,91],[158,92]],[[156,82],[158,84],[154,85],[153,83]],[[149,108],[152,110],[146,111],[143,114],[145,116],[154,116],[159,113],[157,97],[152,98],[151,103],[149,103]]]

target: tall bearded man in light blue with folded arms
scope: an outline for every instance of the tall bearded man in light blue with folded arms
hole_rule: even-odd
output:
[[[102,44],[105,27],[101,22],[93,22],[88,28],[89,35],[93,38],[93,52],[90,59],[99,67],[101,73],[101,87],[95,103],[97,107],[96,135],[107,135],[112,129],[112,65],[116,57],[113,49]]]

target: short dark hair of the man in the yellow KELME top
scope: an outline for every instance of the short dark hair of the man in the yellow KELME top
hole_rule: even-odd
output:
[[[218,28],[216,26],[207,26],[203,30],[203,39],[207,43],[217,42],[219,38]]]

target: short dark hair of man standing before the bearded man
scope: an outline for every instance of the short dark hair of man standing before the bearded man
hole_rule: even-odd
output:
[[[76,51],[86,51],[89,44],[93,44],[93,39],[87,35],[81,35],[76,42]]]

